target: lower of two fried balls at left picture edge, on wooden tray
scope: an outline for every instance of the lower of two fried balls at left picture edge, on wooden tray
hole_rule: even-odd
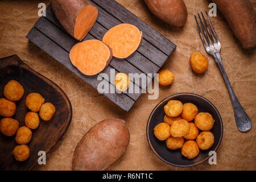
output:
[[[3,118],[0,122],[0,131],[2,134],[11,137],[19,128],[19,121],[13,118]]]

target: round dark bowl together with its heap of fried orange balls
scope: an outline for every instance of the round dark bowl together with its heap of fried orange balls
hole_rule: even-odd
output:
[[[206,98],[178,93],[152,110],[146,133],[160,160],[175,167],[192,167],[207,163],[210,151],[217,151],[223,124],[220,113]]]

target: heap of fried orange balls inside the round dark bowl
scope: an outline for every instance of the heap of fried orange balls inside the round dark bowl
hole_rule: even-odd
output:
[[[211,114],[198,113],[196,105],[177,100],[168,101],[164,112],[164,122],[155,126],[154,135],[159,140],[166,140],[167,148],[181,148],[185,158],[194,159],[199,155],[199,148],[208,150],[213,146],[214,135],[209,131],[214,125]]]

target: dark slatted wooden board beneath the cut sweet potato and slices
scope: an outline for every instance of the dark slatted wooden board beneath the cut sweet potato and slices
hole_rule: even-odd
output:
[[[109,76],[109,79],[104,78],[105,82],[109,82],[109,87],[114,89],[114,82],[110,79],[111,69],[115,69],[115,73],[122,72],[129,75],[129,73],[157,73],[162,65],[171,55],[176,45],[170,40],[159,34],[148,24],[125,9],[122,5],[114,0],[92,0],[91,1],[98,8],[97,22],[94,24],[89,34],[84,40],[98,39],[102,40],[105,32],[113,26],[120,23],[130,23],[137,26],[143,33],[143,40],[141,46],[133,55],[126,59],[117,59],[113,57],[109,66],[102,71]],[[76,67],[73,66],[69,59],[69,51],[79,42],[61,26],[52,11],[51,6],[47,7],[46,17],[41,17],[35,23],[34,27],[28,33],[27,38],[43,49],[54,59],[63,64],[70,71],[82,78],[88,84],[97,89],[101,80],[98,80],[99,75],[85,76]],[[82,41],[84,41],[82,40]],[[99,76],[102,78],[101,76]],[[103,78],[102,78],[103,79]],[[152,77],[147,77],[147,84],[152,80]],[[138,100],[145,87],[142,86],[141,80],[134,84],[134,80],[130,80],[134,85],[134,90],[139,90],[139,93],[103,93],[106,97],[112,100],[115,104],[123,110],[129,111]]]

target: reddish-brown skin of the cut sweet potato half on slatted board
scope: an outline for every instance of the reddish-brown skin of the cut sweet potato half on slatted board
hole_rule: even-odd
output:
[[[72,36],[74,36],[76,18],[79,12],[86,5],[93,6],[88,0],[50,0],[50,3],[56,18]]]

